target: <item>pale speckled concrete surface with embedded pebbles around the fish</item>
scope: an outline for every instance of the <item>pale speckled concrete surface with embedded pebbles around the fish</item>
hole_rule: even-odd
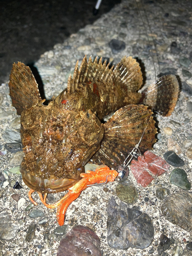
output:
[[[166,130],[163,130],[165,127],[170,127],[173,131],[172,138],[174,142],[177,142],[180,146],[178,155],[185,161],[185,165],[182,168],[187,173],[188,180],[191,183],[192,175],[190,170],[192,160],[186,154],[190,146],[186,147],[185,143],[186,140],[189,140],[189,142],[192,140],[192,115],[190,108],[188,108],[189,102],[192,102],[192,93],[190,94],[192,85],[190,77],[191,2],[148,1],[144,3],[145,11],[140,3],[139,8],[142,17],[144,17],[150,45],[152,45],[157,75],[172,71],[172,73],[174,72],[179,76],[182,85],[188,86],[187,92],[182,91],[180,93],[176,109],[170,117],[157,116],[161,139],[155,144],[153,152],[163,157],[163,154],[170,149],[167,145],[167,140],[170,137],[165,133]],[[46,35],[44,36],[45,38]],[[125,49],[119,53],[113,53],[109,47],[109,42],[112,39],[124,41]],[[174,47],[173,42],[177,42]],[[85,54],[88,56],[104,56],[110,58],[114,63],[117,63],[124,55],[137,57],[145,73],[145,84],[150,84],[155,80],[155,74],[148,45],[144,26],[135,2],[123,1],[109,13],[103,14],[93,25],[87,25],[77,33],[73,32],[63,43],[57,42],[55,45],[54,42],[54,47],[42,53],[34,66],[37,68],[44,83],[45,95],[48,99],[53,95],[58,95],[67,86],[67,78],[70,73],[73,73],[76,61],[79,59],[80,62]],[[8,131],[9,127],[12,130],[18,129],[19,120],[15,109],[11,105],[6,79],[2,87],[0,87],[0,92],[3,98],[0,113],[4,114],[3,117],[1,116],[0,133],[3,135],[5,131]],[[5,143],[6,141],[1,137],[1,152],[5,152]],[[26,207],[30,205],[27,195],[29,188],[22,182],[20,175],[9,172],[11,168],[10,159],[13,156],[14,154],[8,151],[1,156],[1,171],[5,178],[0,188],[2,209],[0,214],[3,216],[1,218],[4,218],[1,223],[7,225],[7,229],[6,226],[5,229],[8,233],[7,236],[11,239],[1,239],[0,255],[56,255],[59,242],[64,234],[59,235],[55,231],[58,227],[55,210],[45,208],[38,197],[34,195],[38,206],[33,207],[33,209],[41,210],[47,218],[47,223],[44,225],[39,224],[39,220],[42,217],[37,217],[36,219],[29,217],[31,209],[26,210]],[[120,202],[115,193],[117,182],[108,183],[100,187],[90,187],[83,191],[80,197],[69,207],[65,221],[65,224],[68,225],[67,231],[76,224],[87,225],[92,228],[101,240],[103,256],[158,255],[157,245],[159,244],[161,233],[166,234],[172,241],[170,247],[164,252],[164,256],[192,255],[191,251],[186,249],[186,244],[191,242],[191,232],[187,232],[168,222],[161,212],[163,202],[156,198],[155,192],[159,187],[169,189],[171,195],[183,191],[169,182],[169,175],[173,169],[174,167],[170,167],[168,173],[158,177],[146,188],[140,187],[132,174],[129,177],[139,194],[139,199],[135,205],[148,214],[154,222],[155,238],[148,248],[143,250],[136,248],[116,250],[108,246],[106,241],[106,210],[112,195],[115,196],[117,203]],[[13,189],[16,181],[22,185],[20,190]],[[108,188],[108,192],[106,193],[106,189],[103,188]],[[11,198],[11,195],[16,193],[20,194],[18,202]],[[54,195],[54,200],[60,198],[61,194]],[[146,197],[150,198],[152,203],[146,203],[144,200]],[[8,228],[9,224],[10,228]],[[34,229],[31,234],[29,234],[30,227]],[[28,237],[27,234],[29,234]],[[176,246],[182,247],[181,254],[174,252],[174,247]],[[151,253],[152,249],[154,252]]]

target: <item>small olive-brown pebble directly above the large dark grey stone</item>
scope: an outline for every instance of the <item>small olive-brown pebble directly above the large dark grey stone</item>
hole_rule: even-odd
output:
[[[134,204],[138,199],[137,190],[130,181],[118,183],[116,186],[116,194],[121,201],[127,204]]]

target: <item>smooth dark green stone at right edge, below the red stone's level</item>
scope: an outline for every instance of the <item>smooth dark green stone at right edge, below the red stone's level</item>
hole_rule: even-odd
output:
[[[176,168],[172,170],[172,172],[170,173],[169,180],[170,183],[185,190],[189,190],[191,187],[184,169]]]

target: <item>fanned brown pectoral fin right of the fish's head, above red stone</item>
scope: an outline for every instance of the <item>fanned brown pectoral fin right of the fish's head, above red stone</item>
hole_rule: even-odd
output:
[[[105,133],[100,150],[91,161],[116,168],[139,142],[143,131],[139,148],[142,153],[151,149],[157,133],[152,114],[144,105],[128,105],[116,111],[104,124]]]

